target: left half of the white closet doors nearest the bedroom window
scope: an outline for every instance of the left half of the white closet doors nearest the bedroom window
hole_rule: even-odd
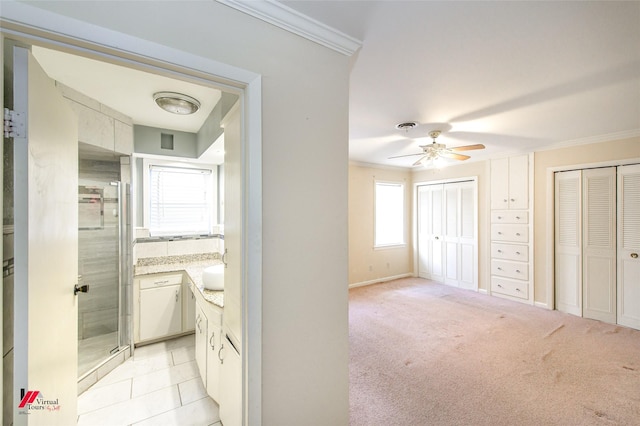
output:
[[[418,276],[444,281],[443,185],[418,187]]]

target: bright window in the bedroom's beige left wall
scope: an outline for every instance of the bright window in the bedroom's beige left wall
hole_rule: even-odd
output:
[[[375,184],[375,246],[404,244],[404,185]]]

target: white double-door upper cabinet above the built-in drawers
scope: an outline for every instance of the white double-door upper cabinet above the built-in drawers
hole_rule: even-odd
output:
[[[529,208],[529,156],[491,160],[491,209]]]

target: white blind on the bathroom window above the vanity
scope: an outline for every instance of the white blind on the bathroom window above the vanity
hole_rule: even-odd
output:
[[[149,167],[151,235],[209,234],[213,225],[213,182],[209,169]]]

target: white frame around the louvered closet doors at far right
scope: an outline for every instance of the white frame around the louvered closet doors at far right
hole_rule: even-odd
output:
[[[602,161],[595,163],[583,163],[583,164],[569,164],[566,166],[548,167],[546,170],[546,197],[547,197],[547,211],[546,211],[546,229],[545,234],[547,237],[547,244],[545,247],[545,282],[547,284],[547,299],[544,302],[536,302],[536,306],[546,309],[555,309],[555,291],[556,291],[556,276],[555,276],[555,173],[567,172],[571,170],[590,169],[598,167],[616,167],[625,166],[629,164],[640,163],[640,158],[621,159]]]

